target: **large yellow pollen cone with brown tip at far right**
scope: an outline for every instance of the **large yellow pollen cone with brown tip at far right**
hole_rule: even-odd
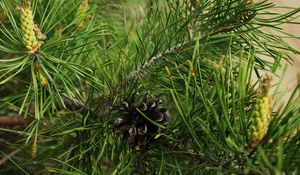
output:
[[[257,102],[251,116],[250,146],[256,147],[265,137],[271,119],[271,100],[268,96],[270,77],[266,77],[259,86]]]

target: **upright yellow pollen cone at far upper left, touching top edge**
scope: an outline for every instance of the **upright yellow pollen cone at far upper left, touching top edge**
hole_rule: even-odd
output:
[[[28,0],[22,0],[23,8],[21,12],[21,29],[23,33],[23,43],[30,53],[35,53],[40,47],[34,31],[34,22],[31,7]]]

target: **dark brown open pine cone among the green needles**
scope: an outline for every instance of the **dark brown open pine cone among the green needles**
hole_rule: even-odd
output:
[[[122,133],[127,143],[132,147],[146,147],[155,141],[155,136],[163,131],[170,122],[167,108],[160,108],[160,99],[148,99],[145,92],[136,104],[136,94],[123,99],[120,106],[112,106],[112,110],[123,112],[122,117],[115,120],[113,128],[116,133]]]

